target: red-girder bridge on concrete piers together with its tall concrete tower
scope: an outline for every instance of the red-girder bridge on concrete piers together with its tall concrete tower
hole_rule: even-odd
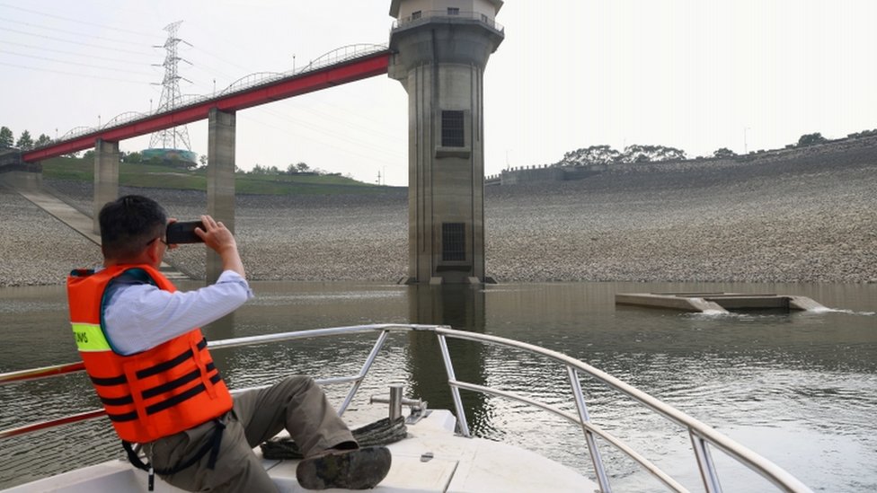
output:
[[[471,10],[461,9],[465,5]],[[93,233],[98,213],[119,196],[119,142],[208,119],[207,213],[235,229],[237,110],[387,74],[409,94],[409,283],[481,283],[483,228],[483,72],[505,37],[495,22],[501,0],[393,0],[390,41],[352,45],[286,74],[248,75],[215,95],[174,101],[170,110],[128,112],[100,128],[75,128],[22,153],[33,163],[94,150]],[[221,273],[208,251],[207,278]]]

